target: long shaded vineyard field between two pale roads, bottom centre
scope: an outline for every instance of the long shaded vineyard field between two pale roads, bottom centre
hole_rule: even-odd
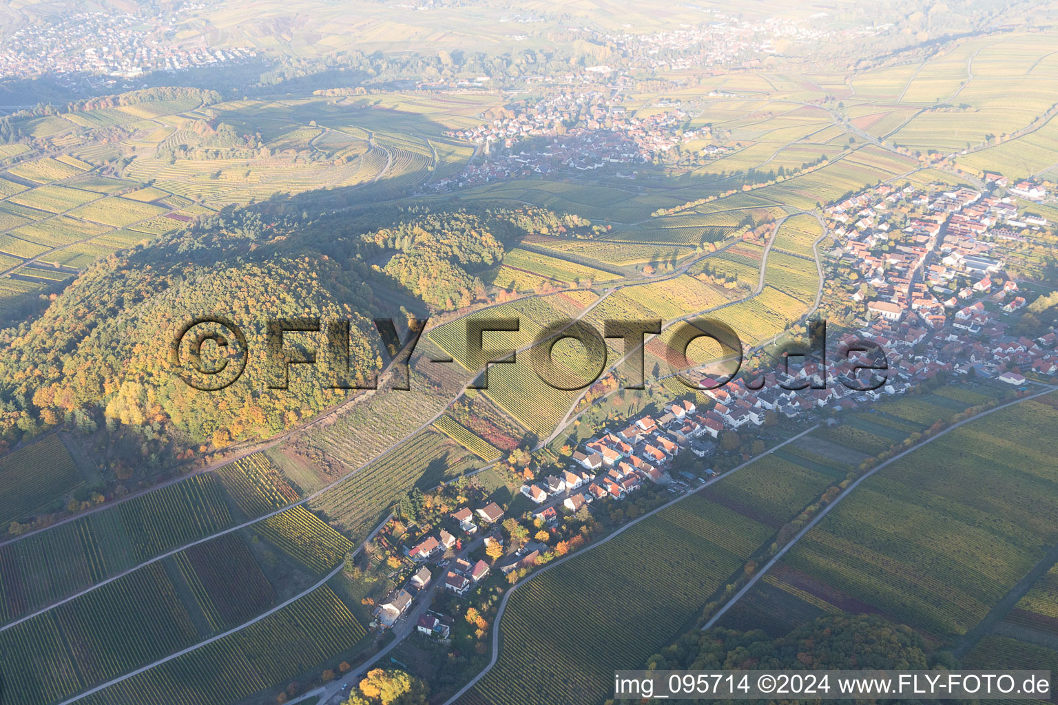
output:
[[[615,668],[640,667],[831,482],[758,461],[539,574],[512,593],[499,661],[460,704],[601,701]],[[584,590],[600,576],[606,590]],[[546,605],[564,605],[566,616],[549,618]]]

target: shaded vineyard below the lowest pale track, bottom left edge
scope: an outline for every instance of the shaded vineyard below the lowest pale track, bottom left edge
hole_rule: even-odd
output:
[[[267,617],[84,698],[85,705],[233,705],[347,654],[366,635],[327,586]]]

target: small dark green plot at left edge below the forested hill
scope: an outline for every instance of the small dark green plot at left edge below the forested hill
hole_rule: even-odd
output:
[[[84,480],[56,434],[0,458],[0,525],[61,500]]]

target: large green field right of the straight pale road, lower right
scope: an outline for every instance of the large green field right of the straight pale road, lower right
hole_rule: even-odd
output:
[[[1058,506],[1056,448],[1039,432],[1054,405],[1022,402],[881,470],[789,551],[772,588],[957,638],[1058,539],[1044,519]]]

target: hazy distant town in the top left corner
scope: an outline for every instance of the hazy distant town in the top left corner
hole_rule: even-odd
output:
[[[199,6],[201,7],[201,6]],[[193,12],[183,4],[157,15],[86,12],[30,23],[14,32],[0,50],[0,77],[42,73],[138,76],[149,71],[177,71],[249,60],[248,48],[177,47],[163,39],[180,15]]]

